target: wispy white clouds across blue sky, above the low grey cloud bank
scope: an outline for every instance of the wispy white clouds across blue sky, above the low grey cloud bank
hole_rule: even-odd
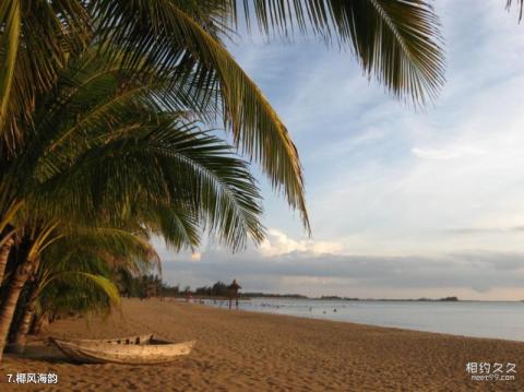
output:
[[[311,39],[233,47],[298,146],[313,235],[343,252],[431,256],[463,247],[515,250],[522,242],[516,231],[468,239],[446,233],[524,222],[522,26],[489,2],[444,1],[436,11],[448,83],[421,111],[362,78],[350,54]],[[265,187],[266,226],[300,237],[300,224],[270,192]],[[288,246],[305,247],[278,245]],[[276,247],[269,253],[281,252]]]

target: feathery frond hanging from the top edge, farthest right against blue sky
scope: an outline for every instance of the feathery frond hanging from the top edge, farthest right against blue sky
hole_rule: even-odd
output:
[[[265,35],[297,31],[350,48],[367,74],[415,104],[433,100],[444,83],[440,22],[427,0],[245,0],[242,11]]]

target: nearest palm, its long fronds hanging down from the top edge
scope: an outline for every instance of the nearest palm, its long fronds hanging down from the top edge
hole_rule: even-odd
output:
[[[36,97],[53,88],[69,59],[95,40],[100,52],[118,57],[119,66],[130,72],[151,78],[159,72],[169,76],[171,90],[184,86],[177,107],[201,119],[222,118],[236,146],[262,164],[273,187],[284,191],[309,228],[298,153],[276,112],[222,39],[237,27],[239,14],[248,25],[254,20],[265,34],[298,29],[320,35],[352,49],[366,72],[374,73],[395,95],[424,103],[443,83],[438,19],[419,0],[246,4],[234,0],[2,2],[0,154],[9,155],[23,143],[24,124],[34,122]],[[166,104],[171,97],[158,98]],[[0,271],[13,243],[9,221],[22,203],[13,188],[3,181],[0,189]]]

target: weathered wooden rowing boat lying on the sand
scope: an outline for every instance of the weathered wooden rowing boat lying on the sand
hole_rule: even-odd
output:
[[[84,364],[165,364],[188,355],[195,341],[172,343],[153,335],[129,336],[110,340],[60,340],[50,337],[63,354]]]

